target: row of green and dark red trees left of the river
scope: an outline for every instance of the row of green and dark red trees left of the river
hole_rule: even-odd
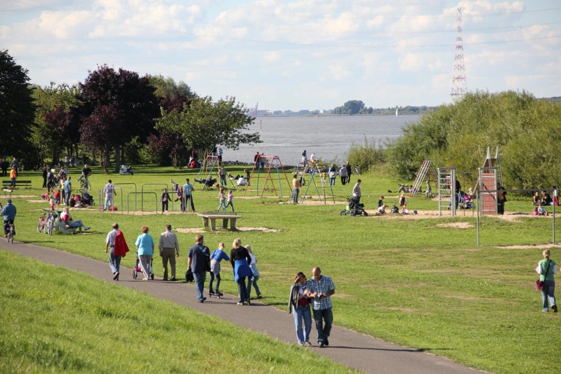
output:
[[[28,70],[0,51],[0,157],[27,168],[73,156],[99,162],[106,172],[121,163],[186,165],[192,149],[259,143],[255,120],[235,97],[214,101],[162,75],[107,65],[77,85],[29,84]]]

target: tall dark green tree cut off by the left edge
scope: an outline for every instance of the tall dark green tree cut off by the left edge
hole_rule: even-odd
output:
[[[27,69],[17,65],[8,51],[0,51],[0,156],[29,162],[34,149],[29,142],[34,115]],[[35,166],[35,165],[33,165]]]

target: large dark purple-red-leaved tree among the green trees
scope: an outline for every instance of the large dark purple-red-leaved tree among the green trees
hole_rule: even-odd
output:
[[[135,136],[145,142],[150,134],[155,133],[154,118],[160,116],[160,109],[154,87],[146,77],[140,77],[136,72],[123,69],[115,71],[112,67],[102,65],[90,71],[79,88],[78,98],[82,102],[80,139],[90,139],[88,144],[103,143],[104,148],[109,147],[109,151],[114,149],[115,171],[118,171],[121,163],[125,163],[125,144]],[[107,113],[107,110],[112,112]],[[111,122],[98,124],[98,118],[90,118],[94,115]],[[109,135],[94,141],[92,138],[102,137],[98,133],[99,126],[103,126]]]

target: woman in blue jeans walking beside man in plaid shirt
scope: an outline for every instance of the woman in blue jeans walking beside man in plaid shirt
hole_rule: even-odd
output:
[[[303,272],[297,273],[294,277],[294,283],[290,288],[288,313],[294,314],[298,344],[311,346],[312,314],[310,300],[306,297],[306,276]],[[304,329],[302,329],[302,320],[304,320]]]

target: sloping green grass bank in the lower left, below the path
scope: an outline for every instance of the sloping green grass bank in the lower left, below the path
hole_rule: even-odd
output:
[[[139,291],[3,250],[0,258],[3,373],[351,372]]]

